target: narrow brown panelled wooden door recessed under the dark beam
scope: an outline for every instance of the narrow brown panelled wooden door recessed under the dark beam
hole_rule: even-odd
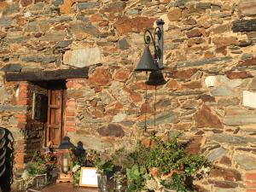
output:
[[[46,124],[46,144],[57,148],[63,134],[64,90],[48,90],[48,118]]]

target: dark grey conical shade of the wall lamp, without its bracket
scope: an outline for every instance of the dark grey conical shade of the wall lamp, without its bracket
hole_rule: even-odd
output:
[[[146,46],[143,50],[143,55],[141,57],[141,60],[137,64],[137,68],[135,71],[141,71],[141,72],[152,72],[157,71],[158,66],[156,65],[148,46]]]

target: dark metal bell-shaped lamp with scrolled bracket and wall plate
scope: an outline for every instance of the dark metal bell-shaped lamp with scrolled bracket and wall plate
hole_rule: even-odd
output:
[[[157,20],[157,27],[154,29],[154,35],[146,30],[144,32],[144,44],[145,48],[143,50],[143,55],[137,64],[135,71],[140,72],[154,72],[164,68],[163,65],[163,49],[164,49],[164,30],[163,25],[164,20]],[[156,41],[157,37],[157,41]],[[150,53],[149,44],[154,45],[154,57]]]

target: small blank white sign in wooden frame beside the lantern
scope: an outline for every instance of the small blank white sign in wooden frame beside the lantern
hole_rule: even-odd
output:
[[[98,187],[98,178],[95,167],[82,167],[79,186]]]

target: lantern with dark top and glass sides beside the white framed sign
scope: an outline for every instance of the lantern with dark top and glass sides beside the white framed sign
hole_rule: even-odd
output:
[[[56,150],[58,158],[59,174],[57,183],[60,182],[72,182],[72,160],[71,153],[74,146],[70,143],[69,137],[63,137],[61,145]]]

